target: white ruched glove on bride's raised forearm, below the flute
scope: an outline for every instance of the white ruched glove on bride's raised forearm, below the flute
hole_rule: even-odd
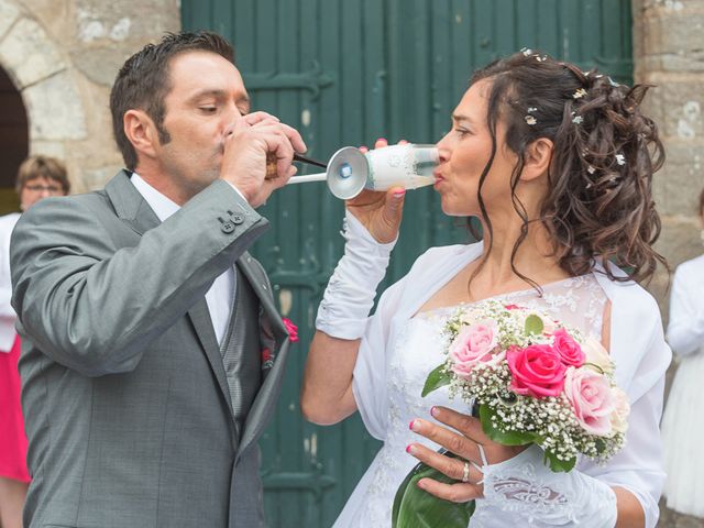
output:
[[[341,234],[346,241],[344,255],[320,301],[316,328],[333,338],[359,339],[364,334],[376,287],[386,274],[396,241],[380,244],[350,212]]]

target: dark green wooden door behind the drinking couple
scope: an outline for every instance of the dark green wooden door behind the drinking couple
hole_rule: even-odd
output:
[[[182,9],[184,29],[234,43],[253,108],[296,127],[320,160],[376,138],[436,142],[472,69],[524,46],[624,81],[632,70],[630,0],[182,0]],[[408,196],[385,284],[427,248],[466,240],[438,206],[432,189]],[[342,252],[342,204],[323,184],[293,186],[264,215],[273,228],[254,253],[301,338],[261,442],[267,522],[329,527],[380,446],[358,416],[316,427],[298,407],[306,343]]]

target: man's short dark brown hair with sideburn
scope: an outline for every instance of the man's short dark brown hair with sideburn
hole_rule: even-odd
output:
[[[207,31],[166,33],[158,44],[147,44],[124,63],[110,92],[112,132],[127,168],[136,167],[136,152],[124,134],[123,119],[128,110],[141,109],[154,121],[162,143],[170,138],[163,128],[166,109],[164,98],[169,92],[169,61],[185,52],[217,53],[234,64],[232,46],[222,36]]]

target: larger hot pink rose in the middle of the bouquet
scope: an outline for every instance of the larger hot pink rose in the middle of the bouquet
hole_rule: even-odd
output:
[[[566,366],[549,344],[531,344],[525,349],[512,346],[506,361],[512,373],[510,388],[516,394],[544,398],[559,396],[562,392]]]

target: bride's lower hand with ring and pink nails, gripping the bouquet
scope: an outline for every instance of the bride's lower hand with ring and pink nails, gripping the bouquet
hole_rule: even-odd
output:
[[[407,451],[419,461],[444,473],[450,479],[459,481],[457,484],[443,484],[432,479],[418,481],[418,486],[421,490],[446,501],[466,503],[482,497],[484,486],[481,484],[483,473],[480,468],[504,462],[526,449],[526,446],[513,447],[494,442],[484,435],[479,418],[462,415],[447,407],[433,407],[431,414],[436,420],[453,430],[421,419],[411,421],[410,429],[442,446],[460,459],[444,457],[420,443],[409,444]],[[485,460],[483,460],[482,451]],[[465,473],[465,461],[468,461],[469,474]],[[465,475],[468,479],[463,482]]]

